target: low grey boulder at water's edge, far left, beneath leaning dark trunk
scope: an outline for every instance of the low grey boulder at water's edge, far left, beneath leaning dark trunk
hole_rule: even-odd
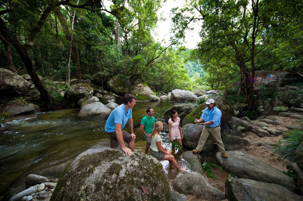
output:
[[[24,104],[20,101],[10,101],[3,108],[3,111],[10,116],[15,116],[23,113],[36,113],[40,111],[38,105],[34,105],[32,103]]]

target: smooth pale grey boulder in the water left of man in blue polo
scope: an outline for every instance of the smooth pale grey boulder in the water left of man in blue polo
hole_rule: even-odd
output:
[[[100,102],[91,103],[82,107],[80,112],[78,113],[79,117],[83,116],[92,116],[92,115],[100,115],[100,114],[108,114],[112,110],[103,105]]]

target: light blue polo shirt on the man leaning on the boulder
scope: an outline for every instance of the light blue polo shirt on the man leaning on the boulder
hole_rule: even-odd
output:
[[[105,131],[108,133],[115,132],[115,124],[122,124],[122,129],[125,127],[125,124],[129,119],[132,119],[132,108],[125,110],[124,104],[119,105],[114,110],[106,120]]]

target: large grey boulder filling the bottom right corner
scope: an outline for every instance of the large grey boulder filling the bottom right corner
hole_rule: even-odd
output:
[[[225,196],[229,201],[235,200],[302,200],[290,190],[274,183],[265,183],[249,179],[236,179],[228,176],[225,181]]]

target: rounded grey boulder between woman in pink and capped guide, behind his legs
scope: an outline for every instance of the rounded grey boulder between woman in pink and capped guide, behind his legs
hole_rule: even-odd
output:
[[[186,124],[185,126],[183,126],[181,128],[183,133],[183,145],[189,149],[197,148],[203,128],[203,125],[198,124]],[[213,137],[209,135],[203,146],[202,151],[212,150],[213,142]]]

